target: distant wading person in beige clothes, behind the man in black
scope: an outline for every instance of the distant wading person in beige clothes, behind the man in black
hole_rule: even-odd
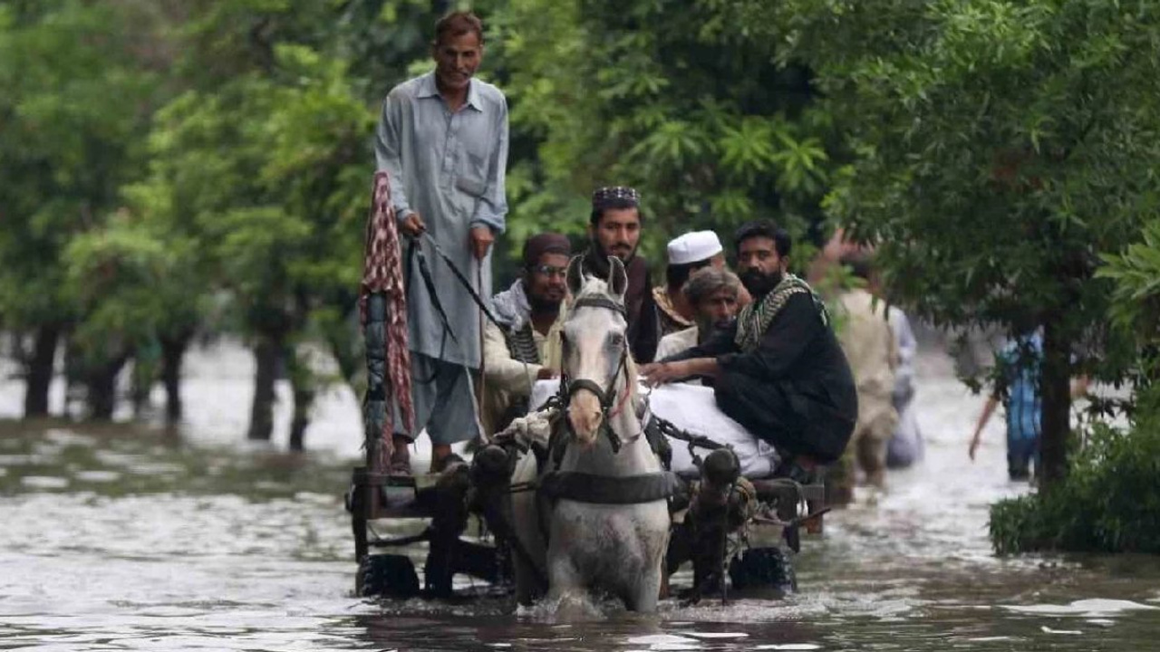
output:
[[[868,254],[846,256],[842,263],[850,266],[854,276],[870,282]],[[858,420],[847,456],[862,468],[868,484],[882,488],[886,484],[886,442],[898,425],[893,401],[898,345],[886,321],[884,300],[863,288],[844,290],[838,300],[841,306],[838,319],[844,318],[838,339],[850,363],[858,393]]]

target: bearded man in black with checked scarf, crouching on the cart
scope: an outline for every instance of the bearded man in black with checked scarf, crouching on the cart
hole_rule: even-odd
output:
[[[722,412],[778,449],[784,459],[778,474],[812,483],[817,465],[841,457],[858,404],[821,299],[786,273],[790,246],[789,234],[771,222],[742,225],[734,247],[753,303],[733,327],[675,358],[645,365],[641,374],[653,385],[713,378]]]

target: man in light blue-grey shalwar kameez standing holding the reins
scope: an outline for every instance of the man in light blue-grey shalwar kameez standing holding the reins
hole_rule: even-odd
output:
[[[484,58],[483,23],[469,12],[448,14],[435,24],[432,57],[433,72],[387,94],[375,142],[399,230],[412,238],[403,255],[415,432],[396,430],[396,473],[409,472],[407,445],[423,427],[432,437],[432,471],[442,470],[452,443],[477,434],[469,368],[480,365],[479,309],[435,245],[479,296],[491,296],[491,247],[507,215],[507,100],[473,79]],[[435,296],[411,247],[428,260]]]

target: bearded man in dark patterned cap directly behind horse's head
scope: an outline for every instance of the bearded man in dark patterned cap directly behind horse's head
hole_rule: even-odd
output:
[[[637,256],[641,223],[640,195],[636,189],[614,186],[593,193],[588,224],[590,244],[583,255],[583,271],[597,278],[608,278],[609,256],[616,256],[624,263],[629,275],[629,288],[624,295],[629,350],[637,362],[651,362],[657,354],[660,327],[648,263]]]

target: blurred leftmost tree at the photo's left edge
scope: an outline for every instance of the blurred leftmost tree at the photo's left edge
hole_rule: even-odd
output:
[[[159,88],[143,65],[154,22],[140,9],[0,5],[0,316],[31,334],[21,356],[28,416],[48,413],[58,342],[84,318],[66,296],[63,254],[116,208]],[[102,365],[119,354],[95,346],[86,356]]]

